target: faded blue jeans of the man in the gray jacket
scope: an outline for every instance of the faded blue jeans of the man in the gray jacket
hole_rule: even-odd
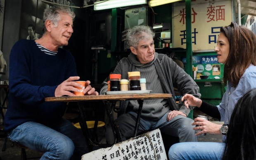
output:
[[[167,112],[157,121],[152,121],[146,118],[140,118],[139,128],[137,133],[143,133],[150,130],[160,129],[161,132],[179,137],[180,142],[185,141],[197,141],[197,136],[194,135],[194,126],[191,124],[194,122],[192,119],[184,116],[176,116],[171,121],[167,121]],[[128,112],[127,114],[121,114],[115,122],[119,124],[119,130],[121,131],[123,139],[127,139],[133,136],[136,123],[137,113]],[[114,143],[114,135],[111,126],[106,127],[106,139],[109,144]]]

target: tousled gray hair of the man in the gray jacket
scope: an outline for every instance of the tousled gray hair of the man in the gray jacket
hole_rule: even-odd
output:
[[[152,38],[155,37],[155,33],[149,26],[135,26],[129,29],[126,35],[128,46],[137,48],[139,41],[146,38],[145,33]]]

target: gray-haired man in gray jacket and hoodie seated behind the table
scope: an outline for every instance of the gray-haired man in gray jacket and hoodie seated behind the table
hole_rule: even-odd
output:
[[[127,33],[127,41],[132,53],[117,64],[113,74],[121,74],[121,79],[128,79],[128,72],[139,71],[140,77],[147,80],[147,89],[151,93],[169,93],[173,97],[168,99],[144,100],[138,133],[155,130],[179,137],[180,142],[197,141],[194,135],[195,126],[192,119],[187,118],[190,109],[184,105],[177,106],[173,87],[178,88],[180,94],[192,94],[200,98],[199,87],[194,80],[180,68],[171,58],[158,54],[154,49],[154,32],[148,26],[135,26]],[[107,91],[107,86],[101,89],[100,94]],[[133,136],[137,110],[136,100],[121,103],[123,114],[115,120],[123,139]],[[119,114],[120,114],[119,112]],[[107,127],[106,138],[114,143],[113,132]]]

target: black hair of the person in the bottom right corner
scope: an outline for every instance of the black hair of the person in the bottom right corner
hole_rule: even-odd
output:
[[[228,126],[223,160],[256,160],[256,89],[240,98]]]

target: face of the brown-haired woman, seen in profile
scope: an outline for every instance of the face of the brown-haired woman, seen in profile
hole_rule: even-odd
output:
[[[229,54],[229,42],[228,38],[222,32],[220,32],[217,39],[217,46],[215,47],[214,51],[217,52],[218,62],[224,64]]]

